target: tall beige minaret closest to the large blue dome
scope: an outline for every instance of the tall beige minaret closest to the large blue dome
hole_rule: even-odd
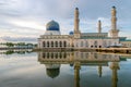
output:
[[[79,8],[74,11],[74,38],[80,38],[81,32],[79,30]]]

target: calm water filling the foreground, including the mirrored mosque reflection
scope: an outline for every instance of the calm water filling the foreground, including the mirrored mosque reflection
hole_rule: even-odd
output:
[[[131,87],[131,55],[1,52],[0,87]]]

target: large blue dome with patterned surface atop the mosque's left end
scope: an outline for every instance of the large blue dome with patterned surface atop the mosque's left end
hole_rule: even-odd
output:
[[[59,30],[59,24],[55,21],[50,21],[49,23],[47,23],[46,29],[47,30]]]

